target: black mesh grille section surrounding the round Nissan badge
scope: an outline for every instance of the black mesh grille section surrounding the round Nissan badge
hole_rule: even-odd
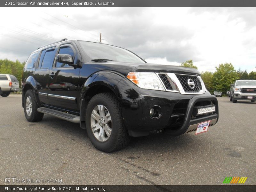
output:
[[[183,87],[184,92],[196,93],[196,92],[199,92],[200,90],[202,90],[200,80],[197,78],[197,76],[178,75],[178,74],[176,74],[176,76],[177,76],[178,80],[180,81],[180,84]],[[188,79],[192,79],[194,81],[194,83],[195,83],[194,89],[191,89],[188,86]]]

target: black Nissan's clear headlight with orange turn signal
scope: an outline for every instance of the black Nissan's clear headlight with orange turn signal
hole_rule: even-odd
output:
[[[132,81],[132,83],[138,85],[143,89],[153,89],[165,91],[162,82],[157,77],[156,73],[151,72],[130,72],[127,78]]]

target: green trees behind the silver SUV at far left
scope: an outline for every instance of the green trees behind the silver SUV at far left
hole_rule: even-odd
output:
[[[0,60],[0,74],[10,74],[17,77],[21,85],[21,76],[25,62],[12,61],[8,59]]]

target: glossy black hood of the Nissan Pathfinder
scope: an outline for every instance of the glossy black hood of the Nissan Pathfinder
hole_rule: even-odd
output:
[[[128,63],[128,62],[84,62],[87,67],[97,68],[99,70],[113,70],[126,76],[131,71],[138,72],[163,72],[163,73],[181,73],[200,75],[195,68],[186,68],[173,65],[152,64],[152,63]]]

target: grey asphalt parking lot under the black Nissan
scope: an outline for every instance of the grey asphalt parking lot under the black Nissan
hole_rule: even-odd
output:
[[[208,132],[152,133],[107,154],[79,124],[49,115],[30,123],[21,95],[0,97],[0,185],[26,184],[7,177],[62,179],[41,185],[221,185],[235,176],[256,185],[256,102],[218,101],[220,119]]]

